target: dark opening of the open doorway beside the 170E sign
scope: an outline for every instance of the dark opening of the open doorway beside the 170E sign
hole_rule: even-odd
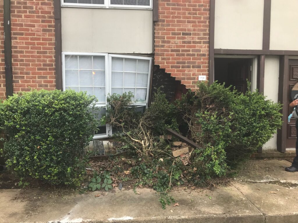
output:
[[[239,92],[247,91],[246,80],[252,81],[251,70],[251,58],[214,58],[214,80]]]

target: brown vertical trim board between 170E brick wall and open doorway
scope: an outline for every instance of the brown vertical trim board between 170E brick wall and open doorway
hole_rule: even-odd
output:
[[[215,23],[215,0],[210,0],[209,12],[209,84],[214,82],[214,23]]]

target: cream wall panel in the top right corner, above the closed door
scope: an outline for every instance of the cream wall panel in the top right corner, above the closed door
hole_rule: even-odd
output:
[[[298,1],[271,0],[271,50],[298,50]]]

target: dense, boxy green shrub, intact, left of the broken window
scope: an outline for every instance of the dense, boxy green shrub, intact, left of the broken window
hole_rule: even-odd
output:
[[[7,167],[47,183],[79,184],[83,148],[97,126],[94,100],[73,90],[33,90],[4,100],[0,117],[9,136],[2,149]]]

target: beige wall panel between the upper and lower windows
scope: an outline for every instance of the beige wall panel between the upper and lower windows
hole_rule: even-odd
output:
[[[152,53],[152,10],[62,7],[62,51]]]

